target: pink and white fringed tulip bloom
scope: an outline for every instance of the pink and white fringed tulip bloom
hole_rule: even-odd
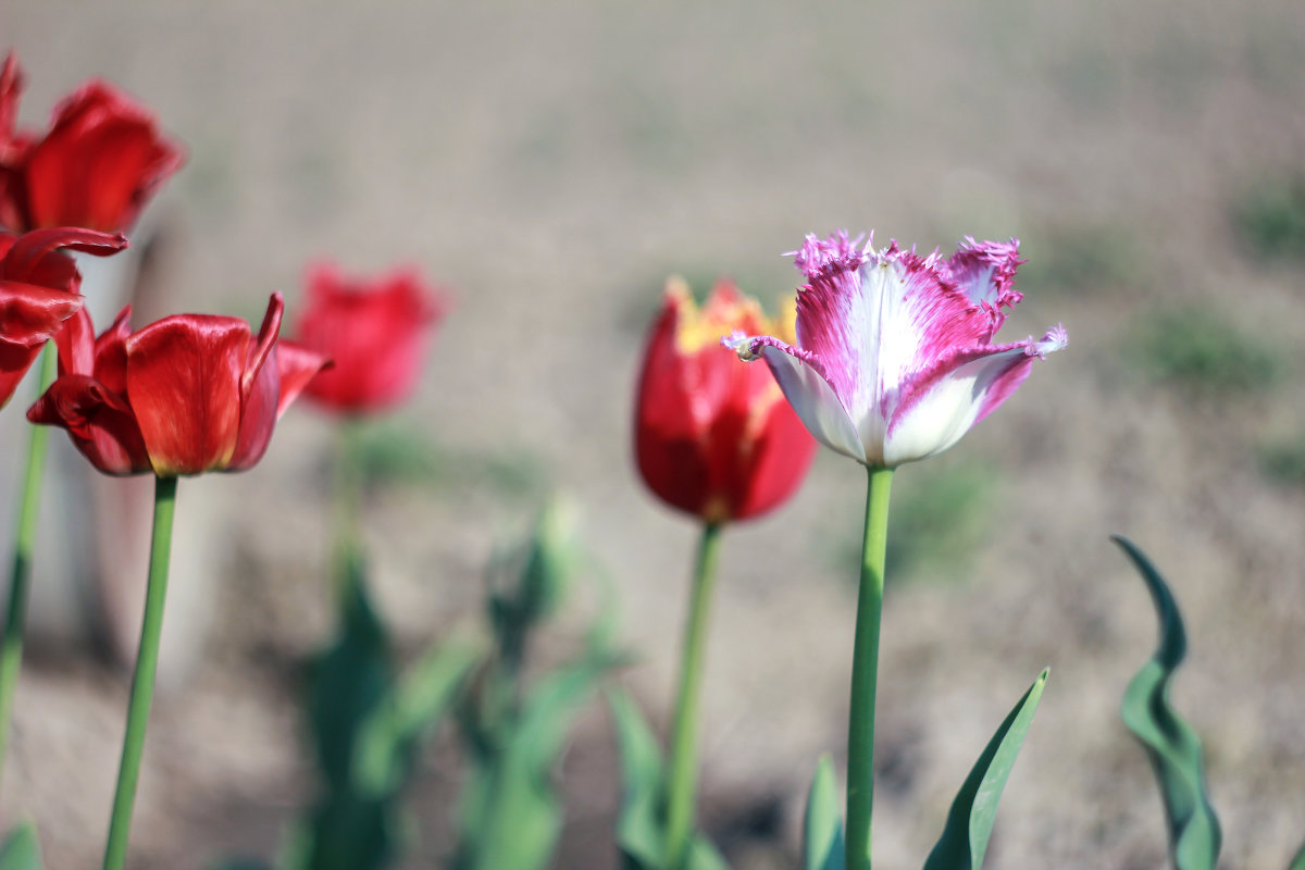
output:
[[[954,445],[1067,339],[1056,326],[1039,340],[992,343],[1004,309],[1023,297],[1014,239],[967,237],[950,260],[872,243],[809,235],[793,253],[809,282],[797,290],[796,346],[743,334],[723,343],[770,365],[822,443],[893,468]]]

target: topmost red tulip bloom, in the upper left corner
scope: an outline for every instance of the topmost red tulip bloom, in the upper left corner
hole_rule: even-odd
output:
[[[44,136],[16,133],[22,73],[13,55],[0,72],[0,222],[125,231],[155,189],[181,166],[180,147],[154,113],[91,80],[64,99]]]

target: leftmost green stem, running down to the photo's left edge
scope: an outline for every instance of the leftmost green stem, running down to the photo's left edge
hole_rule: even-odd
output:
[[[59,355],[51,342],[40,355],[39,398],[55,381]],[[0,640],[0,777],[4,773],[5,750],[9,747],[9,719],[13,715],[13,693],[22,664],[22,633],[27,622],[27,599],[31,593],[31,556],[37,544],[37,522],[40,513],[40,477],[46,468],[46,445],[50,429],[31,427],[27,442],[27,475],[22,481],[18,528],[14,533],[13,571],[9,575],[9,609],[5,612],[4,640]]]

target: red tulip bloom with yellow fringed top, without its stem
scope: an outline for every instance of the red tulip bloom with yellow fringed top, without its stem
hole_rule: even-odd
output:
[[[816,451],[770,372],[739,365],[720,338],[774,322],[733,284],[716,284],[698,307],[683,282],[667,287],[649,335],[634,440],[639,472],[663,501],[709,523],[746,519],[786,498]]]

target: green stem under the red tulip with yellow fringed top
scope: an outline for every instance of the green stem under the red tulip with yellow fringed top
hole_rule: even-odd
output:
[[[689,854],[693,836],[693,797],[698,766],[698,695],[702,686],[702,647],[706,640],[707,607],[716,574],[720,526],[702,527],[698,562],[693,574],[689,622],[684,631],[684,657],[680,660],[680,694],[676,699],[671,732],[671,773],[667,780],[667,870],[680,870]]]

